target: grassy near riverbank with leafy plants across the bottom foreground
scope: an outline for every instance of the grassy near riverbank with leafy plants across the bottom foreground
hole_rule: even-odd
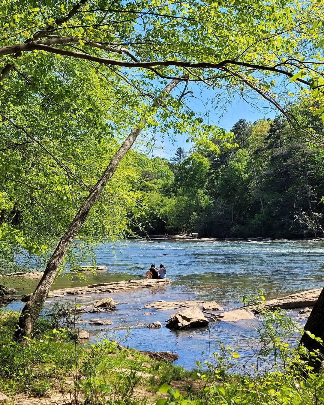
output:
[[[304,364],[286,343],[293,332],[288,318],[275,350],[281,353],[280,361],[294,367],[281,369],[280,362],[274,367],[272,340],[267,346],[260,336],[262,353],[267,353],[264,357],[260,352],[260,368],[246,364],[238,369],[239,351],[221,346],[220,355],[205,364],[197,362],[196,369],[188,371],[152,360],[113,340],[97,345],[78,343],[73,328],[44,318],[38,320],[32,340],[13,342],[17,316],[0,317],[0,403],[4,405],[314,405],[323,378],[311,370],[302,373]],[[282,319],[271,317],[271,333],[277,322]]]

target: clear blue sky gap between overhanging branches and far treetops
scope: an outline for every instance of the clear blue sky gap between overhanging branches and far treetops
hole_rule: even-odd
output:
[[[237,95],[232,98],[231,102],[230,100],[227,101],[223,96],[223,99],[219,102],[219,107],[216,107],[212,104],[215,98],[214,91],[207,89],[201,93],[197,91],[197,88],[192,90],[194,90],[194,97],[184,100],[187,105],[195,112],[203,115],[205,122],[215,124],[228,131],[241,118],[254,122],[261,118],[273,119],[278,113],[266,100],[260,100],[255,94],[251,94],[246,100]],[[221,94],[219,93],[218,96],[221,96]],[[191,145],[191,143],[186,142],[185,134],[182,136],[177,135],[175,143],[172,143],[167,136],[162,139],[160,135],[157,135],[157,147],[150,154],[151,156],[170,159],[174,156],[177,146],[181,146],[188,151]]]

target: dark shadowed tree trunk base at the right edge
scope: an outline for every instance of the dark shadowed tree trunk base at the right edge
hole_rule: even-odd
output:
[[[312,335],[315,335],[315,337],[320,337],[324,342],[324,288],[309,315],[304,328],[304,334],[300,342],[300,344],[304,345],[310,352],[313,352],[314,350],[319,351],[320,356],[315,360],[310,360],[310,362],[312,362],[311,365],[314,367],[314,371],[318,372],[322,367],[324,343],[320,343],[319,341],[312,339],[308,333],[306,333],[306,331],[310,332]]]

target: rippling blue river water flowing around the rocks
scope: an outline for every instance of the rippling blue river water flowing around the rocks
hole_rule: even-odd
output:
[[[126,345],[141,350],[176,351],[179,354],[177,364],[192,368],[196,360],[209,360],[210,354],[218,350],[217,340],[234,347],[241,358],[247,358],[251,354],[250,345],[258,338],[251,321],[216,322],[208,329],[171,331],[163,327],[149,330],[146,324],[160,321],[164,326],[169,315],[175,311],[153,310],[153,315],[145,316],[143,313],[151,310],[143,309],[144,305],[161,299],[192,299],[216,301],[224,309],[232,309],[241,305],[243,294],[257,293],[258,290],[263,290],[266,299],[271,299],[321,288],[324,284],[323,252],[324,243],[315,244],[313,241],[244,243],[160,240],[130,241],[115,246],[106,243],[96,249],[96,260],[98,266],[107,266],[107,271],[99,271],[95,275],[89,273],[86,281],[64,274],[58,278],[53,289],[143,278],[151,263],[157,266],[163,263],[167,277],[173,283],[109,294],[117,304],[116,311],[108,315],[83,314],[80,316],[84,320],[81,327],[89,331],[92,343],[111,334],[122,340],[128,335]],[[164,254],[168,256],[162,256]],[[36,285],[37,280],[12,284],[21,294],[32,291]],[[60,298],[60,302],[88,305],[104,296],[68,296]],[[58,300],[47,300],[45,309],[50,309]],[[8,308],[18,310],[21,306],[22,303],[16,301]],[[292,312],[292,315],[295,313]],[[110,326],[89,325],[90,318],[107,317],[113,322]]]

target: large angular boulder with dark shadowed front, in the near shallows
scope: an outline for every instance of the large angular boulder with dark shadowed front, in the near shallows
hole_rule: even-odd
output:
[[[208,319],[199,308],[187,308],[173,313],[168,319],[166,327],[169,329],[202,328],[208,326]]]

